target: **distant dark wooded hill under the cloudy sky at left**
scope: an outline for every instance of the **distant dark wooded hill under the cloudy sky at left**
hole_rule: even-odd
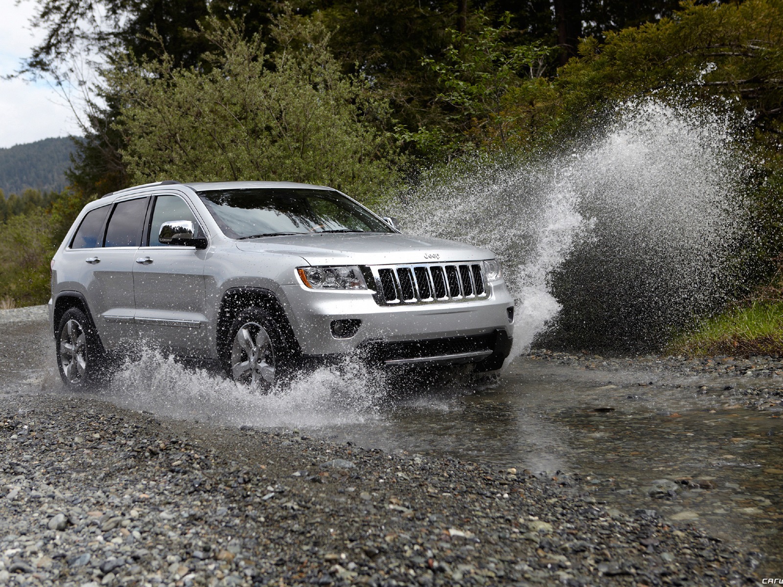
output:
[[[28,188],[59,192],[66,185],[64,172],[73,149],[68,137],[0,149],[0,189],[6,197]]]

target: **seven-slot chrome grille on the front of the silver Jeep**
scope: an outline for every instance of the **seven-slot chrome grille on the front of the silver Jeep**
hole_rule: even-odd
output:
[[[489,297],[484,268],[477,263],[378,265],[369,268],[381,306],[438,304]]]

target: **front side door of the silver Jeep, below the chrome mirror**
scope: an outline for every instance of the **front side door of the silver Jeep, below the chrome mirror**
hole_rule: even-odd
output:
[[[135,322],[146,344],[178,355],[205,357],[207,317],[204,313],[204,258],[206,250],[171,246],[158,239],[161,225],[189,220],[203,229],[188,203],[173,195],[155,196],[146,245],[133,267]]]

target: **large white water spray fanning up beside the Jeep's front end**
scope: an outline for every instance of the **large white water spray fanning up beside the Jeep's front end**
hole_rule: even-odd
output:
[[[626,103],[579,149],[431,173],[395,213],[406,232],[501,258],[517,300],[515,351],[656,348],[718,308],[740,275],[737,129],[714,109]]]

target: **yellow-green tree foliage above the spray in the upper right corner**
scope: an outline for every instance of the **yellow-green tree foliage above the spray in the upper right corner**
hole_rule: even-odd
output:
[[[576,118],[630,95],[723,95],[752,110],[760,138],[777,144],[783,84],[783,2],[685,2],[671,18],[586,38],[579,59],[558,78],[564,108]]]

